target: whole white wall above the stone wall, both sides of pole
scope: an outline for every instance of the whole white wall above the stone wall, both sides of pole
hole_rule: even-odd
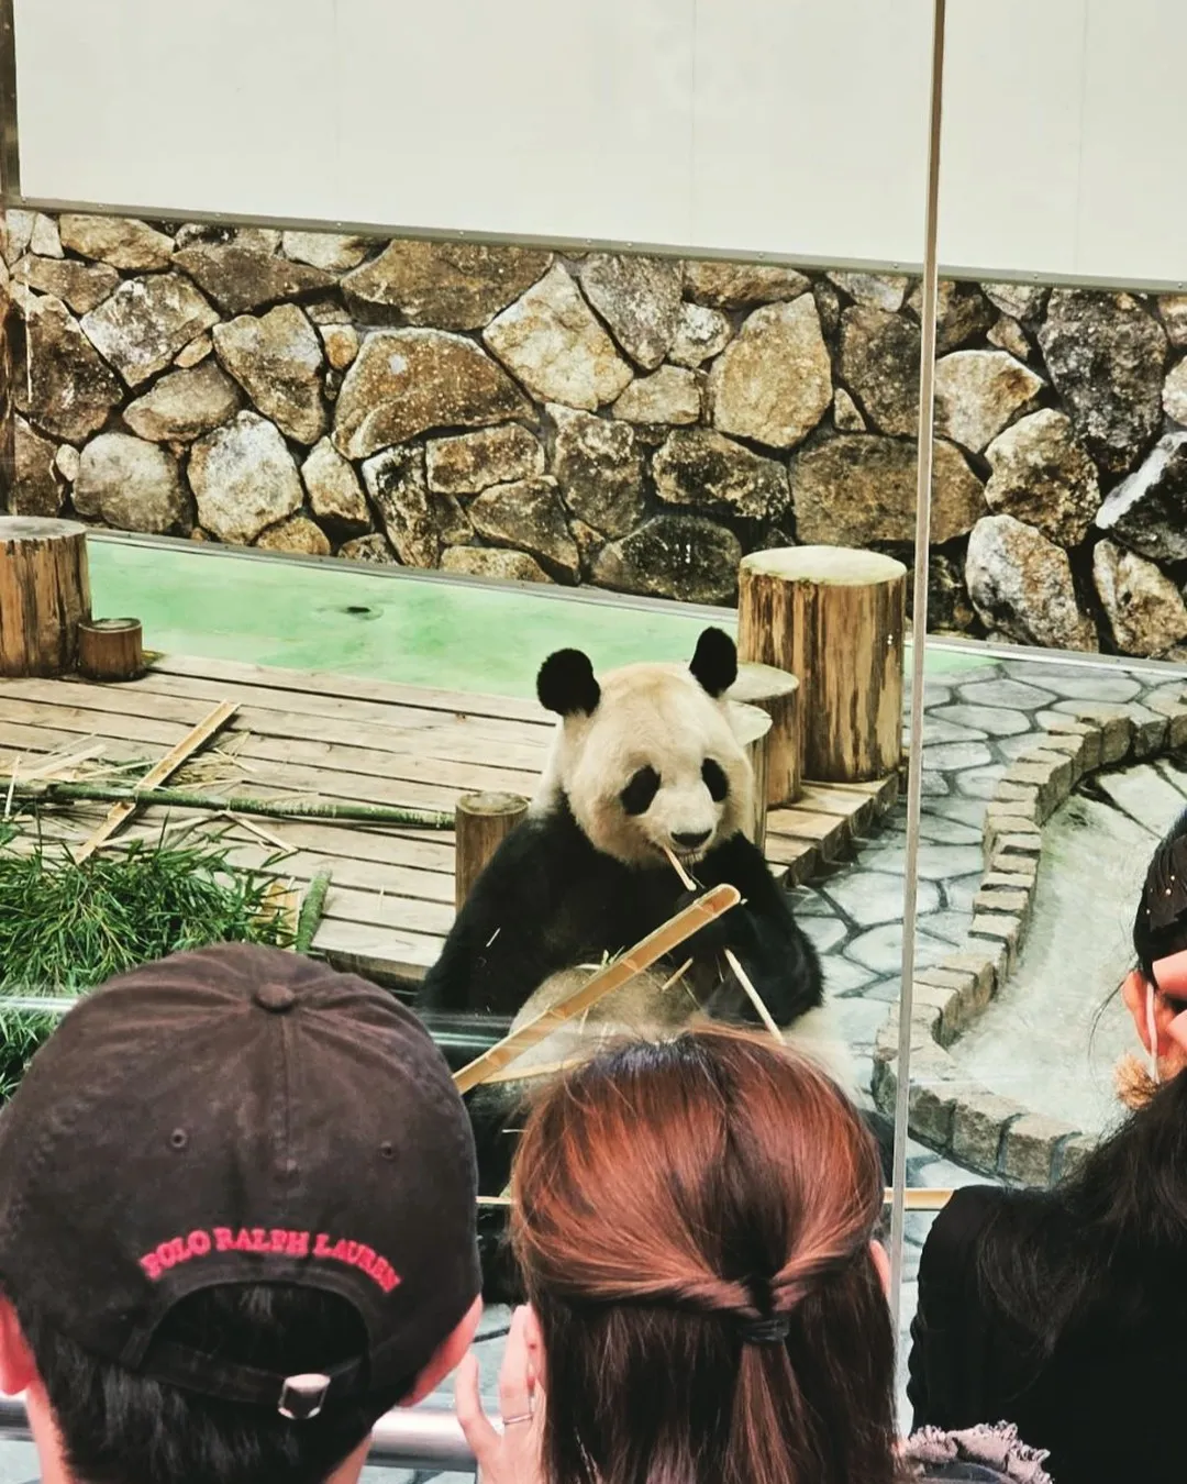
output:
[[[917,263],[932,0],[13,0],[30,199]],[[941,260],[1187,278],[1187,6],[950,0]]]

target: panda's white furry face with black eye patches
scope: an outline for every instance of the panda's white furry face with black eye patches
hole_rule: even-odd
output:
[[[632,865],[665,849],[691,865],[736,834],[754,779],[727,703],[680,665],[589,675],[592,709],[564,714],[537,807],[564,794],[589,840]]]

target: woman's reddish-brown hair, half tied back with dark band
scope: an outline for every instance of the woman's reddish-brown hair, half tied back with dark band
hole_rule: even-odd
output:
[[[549,1088],[512,1177],[550,1484],[890,1484],[877,1147],[812,1064],[703,1028]]]

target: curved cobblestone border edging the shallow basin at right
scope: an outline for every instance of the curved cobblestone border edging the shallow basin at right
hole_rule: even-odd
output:
[[[1002,990],[1030,925],[1043,853],[1043,824],[1076,785],[1187,746],[1187,693],[1154,693],[1148,705],[1085,702],[1043,711],[1043,735],[1006,770],[985,809],[985,871],[964,942],[914,975],[910,1131],[985,1175],[1048,1187],[1074,1169],[1095,1140],[970,1080],[948,1048]],[[898,1089],[898,1003],[878,1030],[872,1094],[892,1113]]]

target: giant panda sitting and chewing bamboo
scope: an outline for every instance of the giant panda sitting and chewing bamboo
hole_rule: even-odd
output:
[[[730,721],[736,678],[733,640],[715,628],[687,666],[628,665],[598,680],[580,650],[545,660],[537,695],[559,721],[539,789],[457,914],[420,1011],[515,1024],[534,1017],[690,899],[671,850],[700,889],[729,881],[742,902],[687,939],[678,962],[656,965],[516,1067],[564,1060],[582,1039],[663,1031],[696,1014],[757,1020],[723,957],[730,948],[775,1021],[795,1022],[795,1039],[807,1049],[815,1042],[849,1080],[841,1040],[821,1024],[816,951],[742,831],[754,776]],[[688,959],[691,969],[668,982]],[[521,1091],[500,1083],[469,1095],[482,1195],[506,1184]]]

